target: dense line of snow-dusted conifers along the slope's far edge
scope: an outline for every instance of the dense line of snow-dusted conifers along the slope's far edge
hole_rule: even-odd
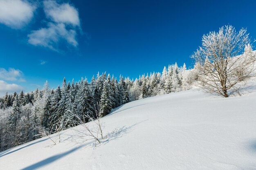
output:
[[[50,89],[46,82],[43,89],[29,93],[13,93],[0,98],[0,151],[37,139],[42,131],[48,134],[57,129],[77,125],[77,119],[88,121],[86,115],[96,117],[96,110],[103,116],[127,102],[160,94],[191,88],[195,79],[186,65],[164,67],[161,73],[142,75],[139,79],[119,77],[106,73],[92,77],[91,81],[66,82]]]

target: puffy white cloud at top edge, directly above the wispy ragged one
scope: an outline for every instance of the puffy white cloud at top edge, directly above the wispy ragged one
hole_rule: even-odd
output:
[[[45,0],[43,4],[46,16],[54,22],[80,25],[78,10],[70,4],[58,4],[54,0]]]

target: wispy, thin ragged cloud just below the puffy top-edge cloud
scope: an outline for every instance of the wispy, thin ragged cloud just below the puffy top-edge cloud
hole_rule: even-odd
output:
[[[63,23],[49,23],[48,28],[32,31],[28,37],[29,44],[34,46],[45,46],[53,50],[56,50],[56,45],[60,40],[65,40],[75,47],[78,45],[78,42],[76,41],[76,31],[73,29],[67,30]]]

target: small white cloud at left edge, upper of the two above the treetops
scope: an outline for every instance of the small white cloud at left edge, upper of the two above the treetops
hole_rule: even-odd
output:
[[[5,79],[9,81],[19,81],[25,82],[26,80],[22,78],[22,71],[14,68],[9,68],[8,71],[4,68],[0,68],[0,79]]]

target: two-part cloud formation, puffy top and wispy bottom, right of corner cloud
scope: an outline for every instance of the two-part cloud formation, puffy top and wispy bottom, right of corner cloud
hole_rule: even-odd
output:
[[[55,0],[45,0],[43,8],[49,19],[47,27],[31,31],[28,43],[34,46],[44,46],[58,51],[61,41],[76,47],[77,30],[80,29],[78,10],[69,3],[58,4]]]

